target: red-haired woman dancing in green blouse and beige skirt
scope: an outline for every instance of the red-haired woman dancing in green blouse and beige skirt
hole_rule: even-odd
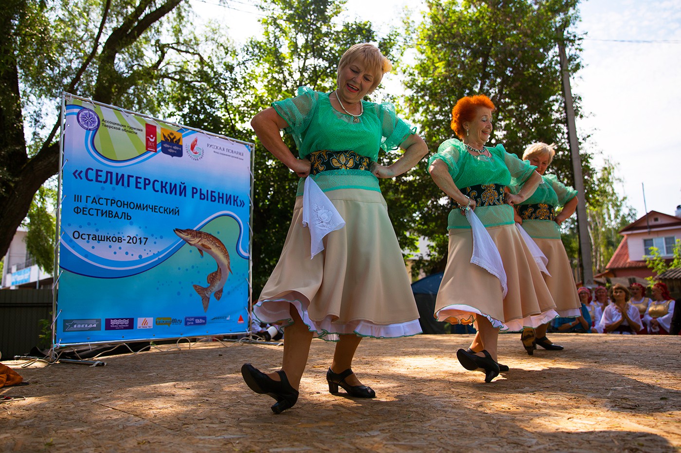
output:
[[[435,316],[453,324],[475,323],[471,347],[458,350],[456,356],[464,368],[483,371],[485,382],[507,369],[497,360],[500,329],[521,331],[558,316],[541,271],[513,222],[513,205],[535,191],[541,176],[501,144],[485,146],[492,133],[493,110],[484,95],[459,99],[452,110],[452,129],[459,139],[444,141],[428,168],[434,182],[456,203],[447,219],[449,255]],[[515,195],[505,193],[511,184],[521,187]],[[467,209],[474,209],[475,216]],[[490,244],[485,241],[491,237],[493,244],[482,258],[501,255],[501,272],[498,266],[471,260],[474,237],[484,239],[477,248]]]

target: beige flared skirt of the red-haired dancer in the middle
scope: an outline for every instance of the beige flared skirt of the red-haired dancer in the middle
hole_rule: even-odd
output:
[[[551,293],[516,226],[488,227],[487,231],[501,254],[508,285],[506,297],[498,278],[471,264],[471,230],[451,229],[435,317],[452,324],[471,324],[481,315],[501,331],[521,331],[556,318]]]

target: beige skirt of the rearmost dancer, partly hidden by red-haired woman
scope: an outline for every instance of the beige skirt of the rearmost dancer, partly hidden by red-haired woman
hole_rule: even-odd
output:
[[[580,316],[580,297],[572,275],[570,260],[560,239],[534,239],[539,250],[548,258],[546,269],[551,275],[541,273],[556,304],[561,318]]]

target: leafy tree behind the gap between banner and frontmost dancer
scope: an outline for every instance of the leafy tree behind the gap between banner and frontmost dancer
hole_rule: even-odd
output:
[[[264,286],[286,238],[298,178],[253,135],[249,120],[299,86],[330,91],[340,56],[351,45],[377,41],[368,22],[340,19],[343,0],[268,0],[260,4],[262,37],[235,49],[225,31],[211,27],[191,76],[176,80],[170,100],[178,120],[244,141],[256,141],[253,199],[253,293]],[[379,42],[390,54],[394,35]],[[378,95],[375,95],[376,98]],[[285,142],[294,154],[289,135]]]

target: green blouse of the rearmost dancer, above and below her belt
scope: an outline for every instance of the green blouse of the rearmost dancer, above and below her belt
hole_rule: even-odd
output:
[[[514,188],[516,189],[516,188]],[[519,188],[518,188],[519,190]],[[513,190],[516,192],[517,190]],[[577,195],[577,190],[558,182],[556,175],[543,175],[541,184],[535,193],[520,205],[536,205],[546,203],[554,209],[563,207],[565,203]],[[554,220],[523,220],[522,227],[530,237],[538,239],[560,239],[560,226]]]

